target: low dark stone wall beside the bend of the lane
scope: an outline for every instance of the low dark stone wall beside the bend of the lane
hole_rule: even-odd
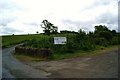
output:
[[[49,48],[26,48],[22,46],[15,47],[15,53],[17,54],[25,54],[31,56],[41,56],[41,57],[49,57],[52,55],[52,51]]]

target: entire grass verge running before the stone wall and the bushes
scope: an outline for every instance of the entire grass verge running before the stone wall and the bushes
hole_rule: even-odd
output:
[[[31,62],[31,61],[51,61],[51,60],[61,60],[67,58],[76,58],[76,57],[90,57],[90,56],[97,56],[101,54],[105,54],[111,51],[118,50],[118,46],[109,46],[109,47],[97,47],[94,51],[77,51],[75,53],[65,53],[65,54],[54,54],[53,58],[47,59],[43,57],[33,57],[28,55],[16,54],[14,53],[14,57],[22,62]]]

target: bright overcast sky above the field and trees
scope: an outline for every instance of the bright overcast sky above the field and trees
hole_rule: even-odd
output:
[[[118,30],[119,0],[0,0],[0,35],[43,32],[42,20],[60,30]]]

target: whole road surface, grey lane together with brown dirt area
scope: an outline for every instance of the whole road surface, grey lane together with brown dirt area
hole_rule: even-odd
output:
[[[58,61],[20,62],[14,47],[3,49],[3,78],[117,78],[118,51],[94,57]]]

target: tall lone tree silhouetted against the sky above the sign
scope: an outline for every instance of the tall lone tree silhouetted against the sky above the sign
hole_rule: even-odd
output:
[[[50,35],[51,33],[55,34],[58,31],[58,27],[54,26],[54,24],[48,22],[48,20],[43,20],[41,27],[44,29],[44,33]]]

